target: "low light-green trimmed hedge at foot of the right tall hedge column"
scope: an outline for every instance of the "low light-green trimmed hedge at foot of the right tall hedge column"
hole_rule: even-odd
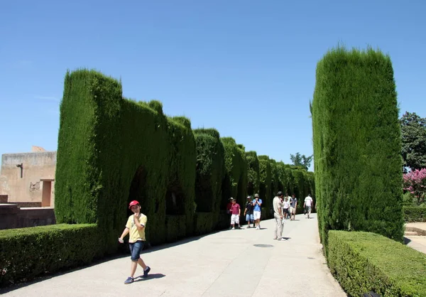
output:
[[[327,261],[349,296],[426,296],[426,254],[379,234],[330,230]]]

